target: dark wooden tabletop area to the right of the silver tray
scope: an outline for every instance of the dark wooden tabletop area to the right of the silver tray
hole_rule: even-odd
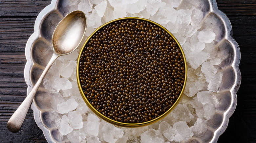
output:
[[[239,69],[242,75],[237,92],[238,103],[226,131],[218,143],[256,142],[256,4],[255,0],[217,0],[218,8],[229,18],[233,38],[241,50]]]

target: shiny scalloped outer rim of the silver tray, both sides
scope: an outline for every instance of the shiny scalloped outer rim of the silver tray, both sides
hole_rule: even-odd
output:
[[[24,78],[25,78],[26,84],[28,85],[27,95],[29,94],[29,92],[31,91],[31,89],[33,87],[32,80],[30,77],[30,71],[32,69],[32,66],[34,65],[34,62],[32,60],[32,53],[31,53],[32,46],[33,46],[33,43],[38,38],[41,37],[40,27],[41,27],[43,20],[50,12],[57,9],[58,1],[59,0],[52,0],[50,5],[48,5],[42,11],[40,11],[40,13],[38,14],[38,16],[35,20],[34,32],[32,33],[32,35],[30,36],[30,38],[28,39],[28,41],[26,43],[25,56],[26,56],[27,62],[26,62],[25,68],[24,68]],[[224,131],[226,130],[227,125],[228,125],[228,120],[236,109],[236,105],[237,105],[236,92],[238,91],[240,84],[241,84],[241,72],[238,67],[239,63],[240,63],[241,54],[240,54],[240,48],[238,46],[238,43],[232,38],[232,26],[231,26],[231,23],[230,23],[228,17],[222,11],[220,11],[218,9],[216,0],[207,0],[207,1],[209,2],[209,5],[210,5],[210,12],[217,15],[222,20],[224,27],[225,27],[225,39],[231,43],[231,45],[234,49],[234,60],[231,64],[231,67],[233,68],[234,73],[235,73],[235,81],[230,89],[231,104],[229,105],[228,109],[223,114],[224,118],[223,118],[221,126],[214,131],[214,135],[213,135],[213,138],[211,139],[210,143],[215,143],[215,142],[217,142],[219,136],[222,135],[224,133]],[[42,130],[47,142],[55,143],[55,140],[51,136],[50,130],[48,130],[47,127],[44,126],[44,124],[42,123],[42,118],[40,116],[41,111],[37,108],[34,101],[31,104],[31,108],[33,110],[35,122],[36,122],[37,126]]]

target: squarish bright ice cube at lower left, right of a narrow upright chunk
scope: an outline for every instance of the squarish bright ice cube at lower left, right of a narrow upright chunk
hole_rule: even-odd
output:
[[[83,117],[81,114],[77,114],[76,111],[69,112],[68,118],[71,128],[81,129],[83,127]]]

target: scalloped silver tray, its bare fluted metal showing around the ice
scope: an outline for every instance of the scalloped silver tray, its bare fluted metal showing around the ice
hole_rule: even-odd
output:
[[[218,138],[225,131],[228,125],[228,119],[233,114],[236,104],[236,92],[240,87],[241,73],[239,71],[240,49],[237,42],[232,38],[232,27],[227,16],[217,8],[215,0],[202,0],[208,6],[208,13],[215,15],[223,24],[223,33],[220,38],[223,40],[219,46],[228,50],[228,56],[222,62],[220,70],[224,73],[224,79],[220,90],[223,92],[219,97],[218,113],[209,120],[208,131],[200,138],[192,138],[199,142],[217,142]],[[25,55],[27,63],[25,65],[24,76],[28,85],[27,95],[31,91],[34,83],[37,81],[45,65],[52,55],[51,37],[53,30],[58,22],[68,13],[68,10],[61,6],[62,1],[52,0],[51,4],[44,8],[37,16],[34,26],[34,33],[30,36],[26,44]],[[75,9],[74,9],[75,10]],[[54,20],[50,18],[54,17]],[[39,87],[38,94],[47,93],[43,86]],[[49,143],[56,143],[54,139],[55,132],[44,123],[43,113],[49,110],[34,99],[32,105],[34,119],[38,127],[43,131],[46,140]]]

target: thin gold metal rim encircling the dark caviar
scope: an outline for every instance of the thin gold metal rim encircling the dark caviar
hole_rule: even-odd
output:
[[[84,47],[85,45],[87,44],[87,42],[91,39],[91,37],[98,31],[100,30],[102,27],[108,25],[108,24],[111,24],[113,22],[116,22],[116,21],[119,21],[119,20],[127,20],[127,19],[137,19],[137,20],[144,20],[144,21],[147,21],[147,22],[150,22],[152,24],[156,24],[157,26],[161,27],[163,30],[165,30],[168,34],[171,35],[171,37],[176,41],[177,45],[179,46],[179,48],[181,49],[181,53],[182,53],[182,56],[183,56],[183,59],[184,59],[184,63],[185,63],[185,80],[184,80],[184,85],[183,85],[183,88],[181,90],[181,93],[178,97],[178,99],[176,100],[176,102],[172,105],[171,108],[169,108],[166,112],[164,112],[162,115],[160,115],[159,117],[155,118],[155,119],[152,119],[152,120],[149,120],[149,121],[146,121],[146,122],[142,122],[142,123],[123,123],[123,122],[118,122],[116,120],[113,120],[113,119],[109,119],[108,117],[102,115],[101,113],[99,113],[99,111],[97,111],[93,105],[88,101],[88,99],[86,98],[84,92],[83,92],[83,89],[81,87],[81,83],[80,83],[80,78],[79,78],[79,62],[80,62],[80,57],[82,55],[82,52],[84,50]],[[187,62],[186,62],[186,58],[185,58],[185,55],[184,55],[184,52],[181,48],[181,45],[180,43],[178,42],[178,40],[172,35],[171,32],[169,32],[166,28],[164,28],[162,25],[156,23],[156,22],[153,22],[151,20],[148,20],[148,19],[144,19],[144,18],[139,18],[139,17],[124,17],[124,18],[118,18],[118,19],[115,19],[115,20],[112,20],[110,22],[107,22],[103,25],[101,25],[99,28],[97,28],[89,37],[88,39],[85,41],[80,53],[79,53],[79,56],[78,56],[78,60],[77,60],[77,66],[76,66],[76,79],[77,79],[77,84],[78,84],[78,88],[79,88],[79,91],[85,101],[85,103],[88,105],[88,107],[98,116],[100,117],[101,119],[109,122],[109,123],[112,123],[114,125],[118,125],[118,126],[122,126],[122,127],[141,127],[141,126],[146,126],[146,125],[149,125],[149,124],[152,124],[152,123],[155,123],[157,121],[159,121],[160,119],[164,118],[165,116],[167,116],[175,107],[176,105],[179,103],[179,101],[181,100],[181,97],[182,97],[182,94],[184,92],[184,89],[185,89],[185,86],[186,86],[186,81],[187,81]]]

